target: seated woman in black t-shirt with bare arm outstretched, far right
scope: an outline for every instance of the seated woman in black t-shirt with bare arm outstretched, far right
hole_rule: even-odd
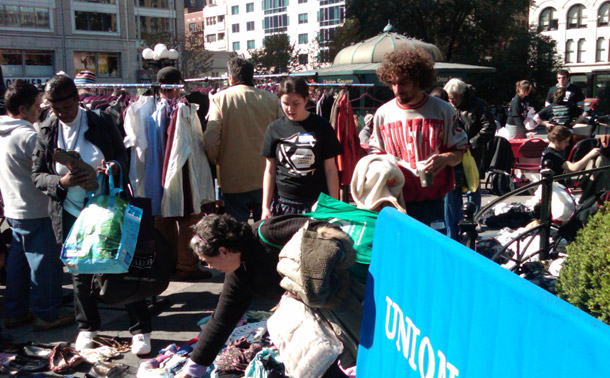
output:
[[[555,175],[560,175],[567,172],[576,172],[585,168],[587,162],[600,154],[599,148],[594,148],[589,151],[582,159],[577,162],[567,161],[561,151],[570,143],[572,132],[565,126],[552,126],[549,131],[549,146],[542,152],[541,163],[544,166],[544,161],[550,162],[550,168]]]

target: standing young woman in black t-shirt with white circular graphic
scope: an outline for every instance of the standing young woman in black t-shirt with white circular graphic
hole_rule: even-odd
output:
[[[267,160],[262,219],[305,213],[320,193],[339,196],[335,156],[341,145],[328,121],[305,109],[307,83],[284,79],[278,96],[285,116],[269,124],[261,151]]]

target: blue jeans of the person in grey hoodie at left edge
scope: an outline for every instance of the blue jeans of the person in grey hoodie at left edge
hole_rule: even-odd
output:
[[[53,321],[61,304],[63,270],[51,219],[7,218],[7,221],[13,239],[6,261],[5,316],[26,315],[31,299],[34,316]]]

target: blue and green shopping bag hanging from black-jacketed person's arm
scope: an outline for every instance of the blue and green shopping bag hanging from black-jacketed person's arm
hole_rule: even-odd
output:
[[[70,273],[126,273],[136,248],[142,209],[119,197],[119,186],[108,175],[108,194],[87,193],[87,206],[70,229],[61,251],[61,260]],[[98,174],[98,184],[104,183]]]

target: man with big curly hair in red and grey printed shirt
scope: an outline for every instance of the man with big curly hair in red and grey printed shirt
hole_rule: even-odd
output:
[[[445,232],[443,197],[453,188],[452,167],[462,161],[466,133],[457,126],[448,102],[424,92],[436,81],[434,60],[424,50],[387,54],[377,76],[392,88],[395,98],[375,113],[369,150],[399,158],[407,213]],[[433,175],[431,185],[422,187],[417,162],[421,171]]]

